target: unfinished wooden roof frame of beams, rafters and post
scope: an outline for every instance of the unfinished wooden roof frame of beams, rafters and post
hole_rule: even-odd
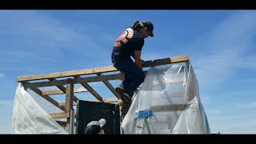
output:
[[[176,62],[189,62],[188,56],[178,56],[172,58],[162,58],[151,61],[146,61],[142,67],[160,66]],[[48,102],[51,102],[54,106],[57,106],[62,113],[50,114],[52,118],[67,118],[66,122],[58,122],[61,126],[66,126],[69,130],[69,134],[74,134],[74,120],[75,113],[74,107],[78,103],[78,98],[74,93],[90,92],[96,98],[95,102],[118,102],[119,95],[114,91],[114,87],[110,84],[110,80],[123,80],[124,74],[107,74],[110,72],[118,71],[114,66],[98,67],[85,70],[73,70],[65,72],[57,72],[50,74],[37,74],[18,77],[17,82],[22,82],[25,89],[29,88],[35,93],[45,98]],[[87,76],[87,77],[82,77]],[[62,78],[62,79],[58,79]],[[64,78],[64,79],[63,79]],[[34,82],[37,80],[43,80],[43,82]],[[103,82],[106,87],[114,94],[116,98],[102,98],[88,83],[89,82]],[[74,84],[81,84],[82,87],[74,89]],[[39,87],[57,86],[58,90],[39,90]],[[57,102],[50,95],[53,94],[66,94],[65,102]]]

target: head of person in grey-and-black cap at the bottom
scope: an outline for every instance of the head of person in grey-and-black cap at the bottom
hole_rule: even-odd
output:
[[[91,121],[87,124],[85,134],[105,134],[103,126],[105,126],[106,120],[104,118],[99,121]]]

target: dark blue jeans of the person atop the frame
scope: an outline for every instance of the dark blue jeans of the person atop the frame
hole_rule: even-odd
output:
[[[142,84],[145,74],[142,69],[134,63],[131,58],[119,58],[112,54],[112,62],[116,69],[125,74],[125,80],[122,82],[123,88],[130,98],[134,95],[134,90]]]

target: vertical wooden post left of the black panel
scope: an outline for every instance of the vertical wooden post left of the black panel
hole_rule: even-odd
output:
[[[66,126],[69,130],[69,134],[74,134],[74,84],[68,83],[66,85],[66,113],[69,113],[69,117],[66,119]]]

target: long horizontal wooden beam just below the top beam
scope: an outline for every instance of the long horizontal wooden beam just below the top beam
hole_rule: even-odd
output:
[[[73,84],[76,83],[83,83],[83,82],[101,82],[105,80],[116,80],[116,79],[123,79],[123,74],[110,74],[110,75],[104,75],[104,76],[95,76],[95,77],[88,77],[88,78],[68,78],[65,80],[58,80],[58,81],[51,81],[51,82],[34,82],[30,83],[31,86],[34,87],[44,87],[44,86],[61,86],[66,85],[70,82]]]

